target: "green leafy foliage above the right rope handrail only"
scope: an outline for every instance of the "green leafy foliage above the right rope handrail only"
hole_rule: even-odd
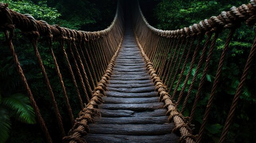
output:
[[[233,5],[247,3],[248,0],[162,0],[155,8],[156,27],[163,30],[181,29],[228,11]]]

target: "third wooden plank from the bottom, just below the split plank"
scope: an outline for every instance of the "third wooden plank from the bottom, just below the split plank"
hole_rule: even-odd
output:
[[[107,117],[95,117],[96,124],[164,124],[168,122],[168,116],[158,117],[119,117],[119,118],[107,118]]]

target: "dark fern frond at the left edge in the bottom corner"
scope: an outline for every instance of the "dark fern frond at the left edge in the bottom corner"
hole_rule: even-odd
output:
[[[0,107],[0,143],[5,143],[10,135],[11,120],[8,110]]]

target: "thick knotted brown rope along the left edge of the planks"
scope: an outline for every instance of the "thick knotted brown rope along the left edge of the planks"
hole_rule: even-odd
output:
[[[123,38],[121,39],[120,44],[118,45],[117,51],[113,55],[111,61],[107,66],[107,70],[105,74],[102,76],[102,79],[98,83],[97,87],[94,90],[94,94],[92,95],[92,99],[87,104],[86,108],[84,108],[78,114],[78,118],[75,120],[75,124],[72,129],[68,132],[69,136],[63,138],[64,141],[68,141],[69,143],[84,143],[84,135],[87,135],[89,131],[88,124],[93,122],[93,116],[100,116],[100,113],[96,110],[98,108],[98,104],[102,104],[103,101],[101,97],[105,96],[104,91],[107,90],[107,83],[111,77],[115,59],[119,51],[121,50],[121,43]]]

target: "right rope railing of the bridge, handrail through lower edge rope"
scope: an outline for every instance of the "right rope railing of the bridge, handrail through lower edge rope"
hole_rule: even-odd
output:
[[[216,91],[220,87],[219,82],[223,76],[221,74],[223,64],[227,62],[227,52],[232,51],[232,49],[229,49],[229,44],[236,29],[241,26],[242,22],[245,21],[246,25],[249,26],[256,23],[255,13],[256,1],[251,0],[247,5],[243,4],[238,8],[233,6],[229,12],[222,12],[218,16],[205,19],[189,27],[168,31],[156,29],[149,25],[143,16],[139,2],[134,6],[132,17],[137,42],[143,49],[142,53],[147,62],[147,68],[158,87],[160,98],[166,103],[168,108],[167,114],[170,114],[169,119],[176,124],[176,128],[173,131],[180,131],[180,139],[196,143],[201,141],[213,99],[216,98]],[[247,28],[253,30],[251,27]],[[229,30],[225,45],[222,51],[216,50],[215,43],[219,35],[227,31],[225,29]],[[253,63],[255,50],[254,40],[250,52],[243,54],[247,56],[244,57],[247,60],[244,60],[245,62],[241,64],[244,66],[244,70],[237,77],[240,79],[240,82],[236,87],[236,93],[229,114],[226,117],[227,120],[220,137],[221,143],[225,141],[238,99],[244,90],[243,86],[246,83],[246,77]],[[219,64],[213,65],[213,62],[216,60],[213,59],[215,58],[213,54],[218,54],[220,51],[222,53],[219,58]],[[243,57],[240,56],[239,58]],[[217,70],[217,72],[213,84],[210,86],[211,90],[207,91],[209,83],[206,84],[205,80],[209,69]],[[192,92],[194,89],[197,89],[196,93]],[[203,98],[206,98],[206,95],[208,95],[209,100],[199,133],[197,136],[194,136],[192,135],[191,128],[193,126],[191,123],[195,115],[197,103],[199,99],[202,99],[201,96],[203,95]],[[188,100],[194,100],[193,106],[190,107],[192,109],[188,108]],[[181,106],[182,101],[183,105]],[[182,115],[185,109],[191,110],[189,117]]]

